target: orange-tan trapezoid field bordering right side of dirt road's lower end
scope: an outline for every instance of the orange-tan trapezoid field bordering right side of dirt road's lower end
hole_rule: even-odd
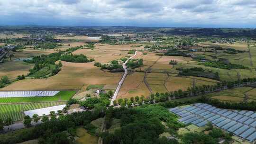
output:
[[[118,94],[119,98],[130,98],[135,96],[150,95],[150,91],[147,89],[146,84],[143,81],[144,73],[133,72],[128,74]]]

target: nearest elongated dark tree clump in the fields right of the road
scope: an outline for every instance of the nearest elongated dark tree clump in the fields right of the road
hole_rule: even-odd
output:
[[[179,74],[181,75],[204,77],[219,81],[219,72],[212,72],[211,70],[206,71],[201,67],[193,67],[189,69],[178,68],[177,70],[179,70]]]

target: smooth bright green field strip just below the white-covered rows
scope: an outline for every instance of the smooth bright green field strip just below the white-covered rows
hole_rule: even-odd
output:
[[[68,100],[73,97],[76,91],[60,91],[55,96],[49,97],[16,97],[16,98],[0,98],[0,103],[19,103],[19,102],[44,102]],[[1,110],[0,110],[1,112]]]

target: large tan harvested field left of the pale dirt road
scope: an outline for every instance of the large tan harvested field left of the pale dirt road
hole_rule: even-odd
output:
[[[1,90],[71,90],[90,84],[117,84],[122,73],[103,72],[93,63],[62,62],[62,70],[47,79],[16,81]]]

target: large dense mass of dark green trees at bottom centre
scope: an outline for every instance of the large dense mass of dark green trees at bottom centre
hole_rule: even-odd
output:
[[[178,144],[175,139],[159,136],[164,131],[170,129],[174,132],[183,126],[163,107],[148,105],[139,108],[112,108],[109,111],[108,121],[120,119],[121,127],[112,134],[103,133],[103,144]],[[161,121],[166,123],[168,130]]]

